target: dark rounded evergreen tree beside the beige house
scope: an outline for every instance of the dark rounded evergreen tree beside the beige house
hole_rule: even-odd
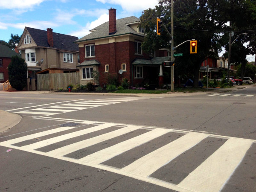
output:
[[[27,84],[27,64],[25,60],[12,56],[11,63],[8,65],[9,82],[13,88],[23,90]]]

